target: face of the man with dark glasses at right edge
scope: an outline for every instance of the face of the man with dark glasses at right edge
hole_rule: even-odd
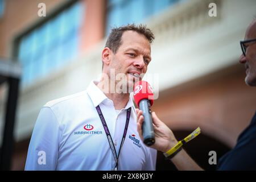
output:
[[[250,24],[245,34],[245,40],[256,39],[256,20]],[[245,56],[240,56],[240,63],[245,64],[247,85],[256,86],[256,42],[246,43]]]

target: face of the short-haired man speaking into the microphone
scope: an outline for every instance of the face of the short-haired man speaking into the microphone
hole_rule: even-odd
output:
[[[151,47],[146,37],[135,31],[125,31],[121,38],[121,46],[112,56],[109,70],[115,69],[115,75],[125,74],[127,86],[133,89],[134,81],[141,80],[138,76],[147,72],[150,61]]]

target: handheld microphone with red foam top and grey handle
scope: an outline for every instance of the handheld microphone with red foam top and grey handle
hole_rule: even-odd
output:
[[[144,138],[144,143],[147,146],[151,146],[155,143],[155,133],[152,122],[151,106],[154,101],[154,91],[150,84],[146,81],[139,81],[134,85],[134,101],[142,110],[142,115],[144,117],[144,122],[142,125],[142,135]]]

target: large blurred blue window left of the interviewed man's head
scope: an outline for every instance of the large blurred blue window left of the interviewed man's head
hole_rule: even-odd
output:
[[[77,56],[83,16],[84,5],[76,1],[20,36],[18,60],[23,68],[23,85],[56,71]]]

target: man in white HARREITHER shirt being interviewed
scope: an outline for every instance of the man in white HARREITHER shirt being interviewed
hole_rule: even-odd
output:
[[[156,150],[139,138],[130,97],[147,71],[152,40],[146,26],[113,28],[102,51],[100,81],[40,110],[25,170],[155,170]],[[119,86],[118,75],[126,76]]]

